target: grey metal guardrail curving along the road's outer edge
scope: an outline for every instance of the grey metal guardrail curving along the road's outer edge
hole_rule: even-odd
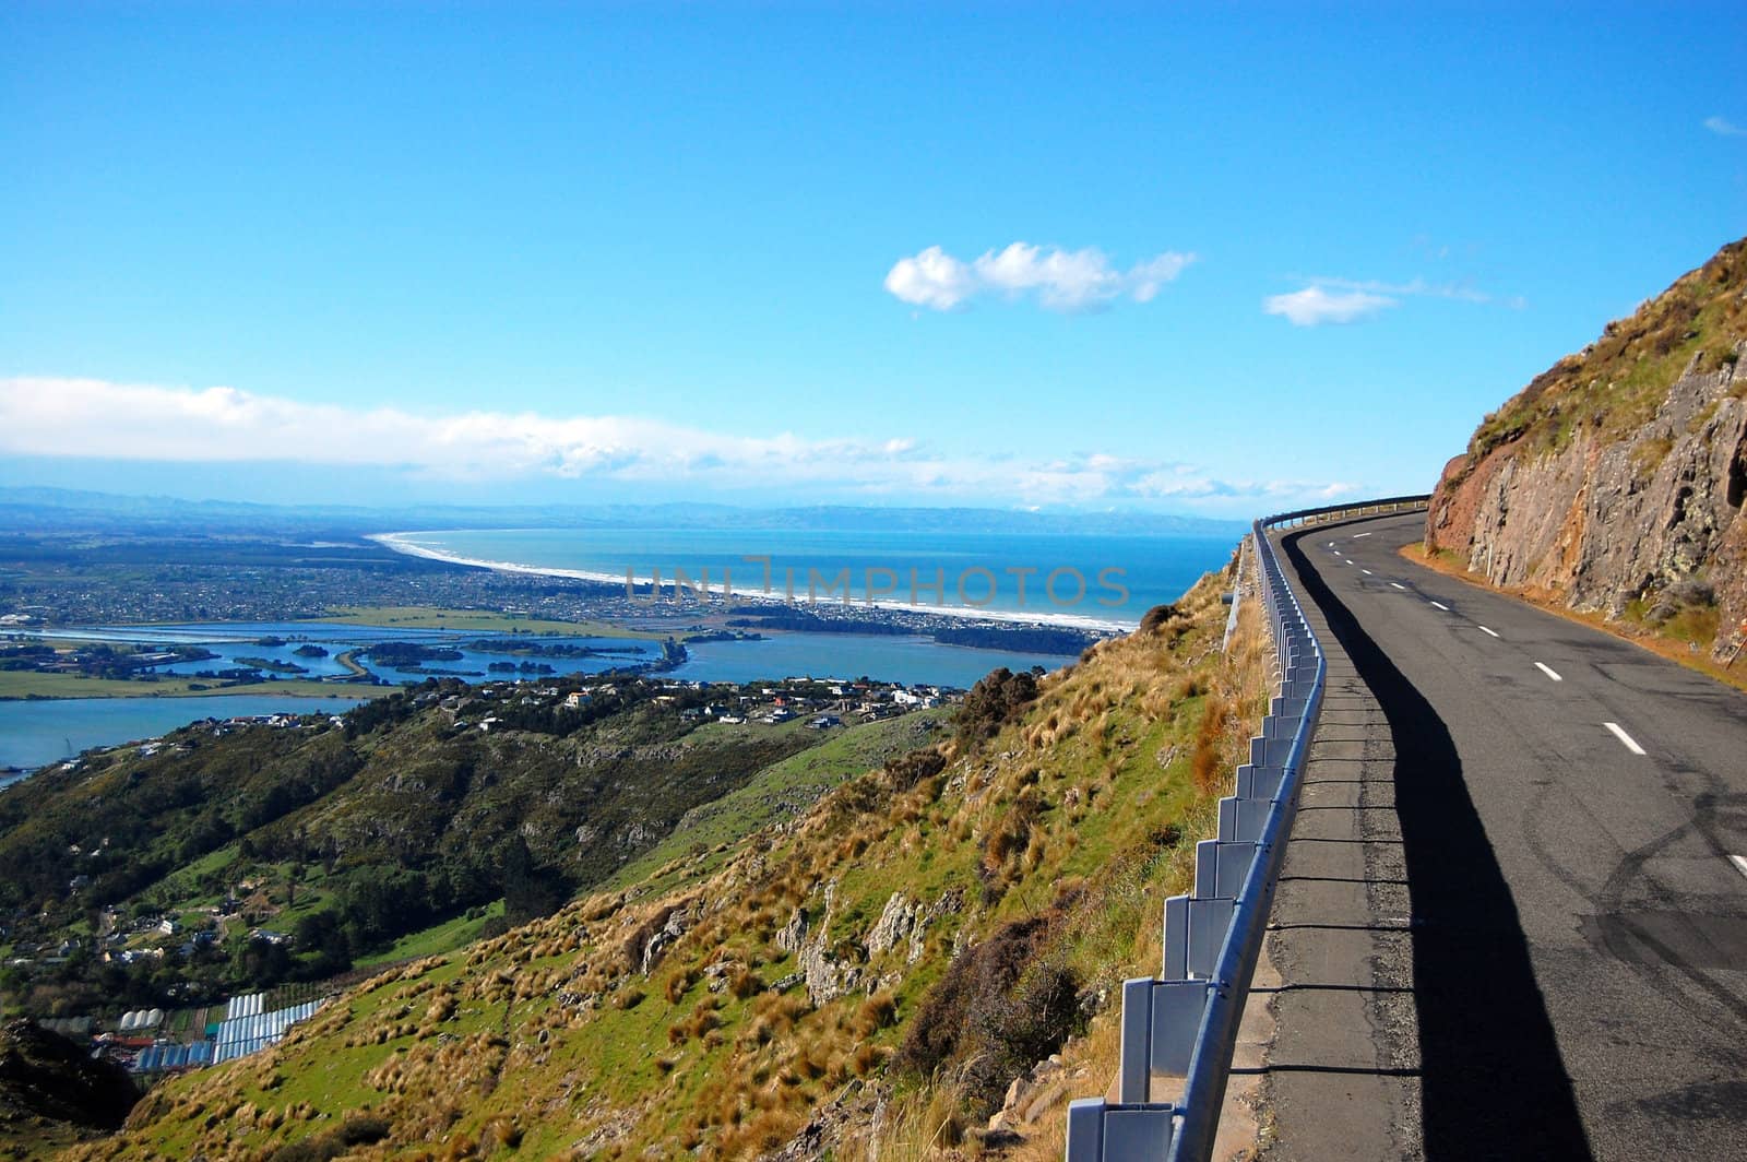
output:
[[[1232,1073],[1237,1029],[1261,956],[1281,861],[1298,816],[1298,788],[1322,709],[1328,666],[1268,542],[1270,528],[1422,508],[1429,496],[1300,508],[1251,528],[1261,603],[1279,657],[1279,694],[1233,793],[1219,800],[1216,839],[1195,844],[1195,889],[1165,900],[1164,972],[1122,987],[1116,1101],[1067,1108],[1067,1162],[1205,1162]],[[1235,601],[1233,596],[1233,615]],[[1183,1078],[1181,1096],[1153,1101],[1155,1075]]]

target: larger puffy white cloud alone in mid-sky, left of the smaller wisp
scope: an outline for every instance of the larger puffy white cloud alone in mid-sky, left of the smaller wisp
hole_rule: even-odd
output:
[[[987,250],[971,262],[929,246],[915,257],[898,259],[886,273],[886,290],[935,311],[950,311],[980,294],[1036,295],[1050,311],[1092,311],[1122,297],[1151,302],[1193,260],[1191,253],[1167,250],[1120,271],[1097,246],[1045,250],[1020,241],[999,252]]]

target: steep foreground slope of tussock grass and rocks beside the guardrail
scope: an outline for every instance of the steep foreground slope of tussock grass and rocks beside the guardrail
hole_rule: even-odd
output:
[[[950,739],[800,816],[694,813],[634,882],[388,970],[70,1157],[1060,1157],[1265,708],[1228,584],[996,671]]]

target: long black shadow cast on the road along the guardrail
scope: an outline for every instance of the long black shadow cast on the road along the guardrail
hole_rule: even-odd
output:
[[[1516,903],[1450,730],[1309,564],[1302,536],[1284,538],[1286,556],[1382,706],[1396,746],[1426,1157],[1588,1159]]]

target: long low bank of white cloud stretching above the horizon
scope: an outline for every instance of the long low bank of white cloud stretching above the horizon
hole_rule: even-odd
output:
[[[1242,515],[1340,484],[1225,481],[1198,465],[1090,451],[1027,461],[912,437],[744,437],[639,416],[414,412],[304,404],[236,388],[0,379],[0,454],[377,467],[421,479],[566,479],[929,501],[1087,505],[1172,500]],[[1260,503],[1267,501],[1267,505]]]

